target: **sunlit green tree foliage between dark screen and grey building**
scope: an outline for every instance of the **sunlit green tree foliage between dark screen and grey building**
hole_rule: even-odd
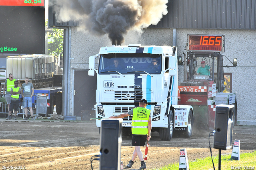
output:
[[[46,21],[47,28],[47,21]],[[58,56],[63,51],[63,29],[52,28],[51,32],[48,32],[48,53],[47,55]]]

